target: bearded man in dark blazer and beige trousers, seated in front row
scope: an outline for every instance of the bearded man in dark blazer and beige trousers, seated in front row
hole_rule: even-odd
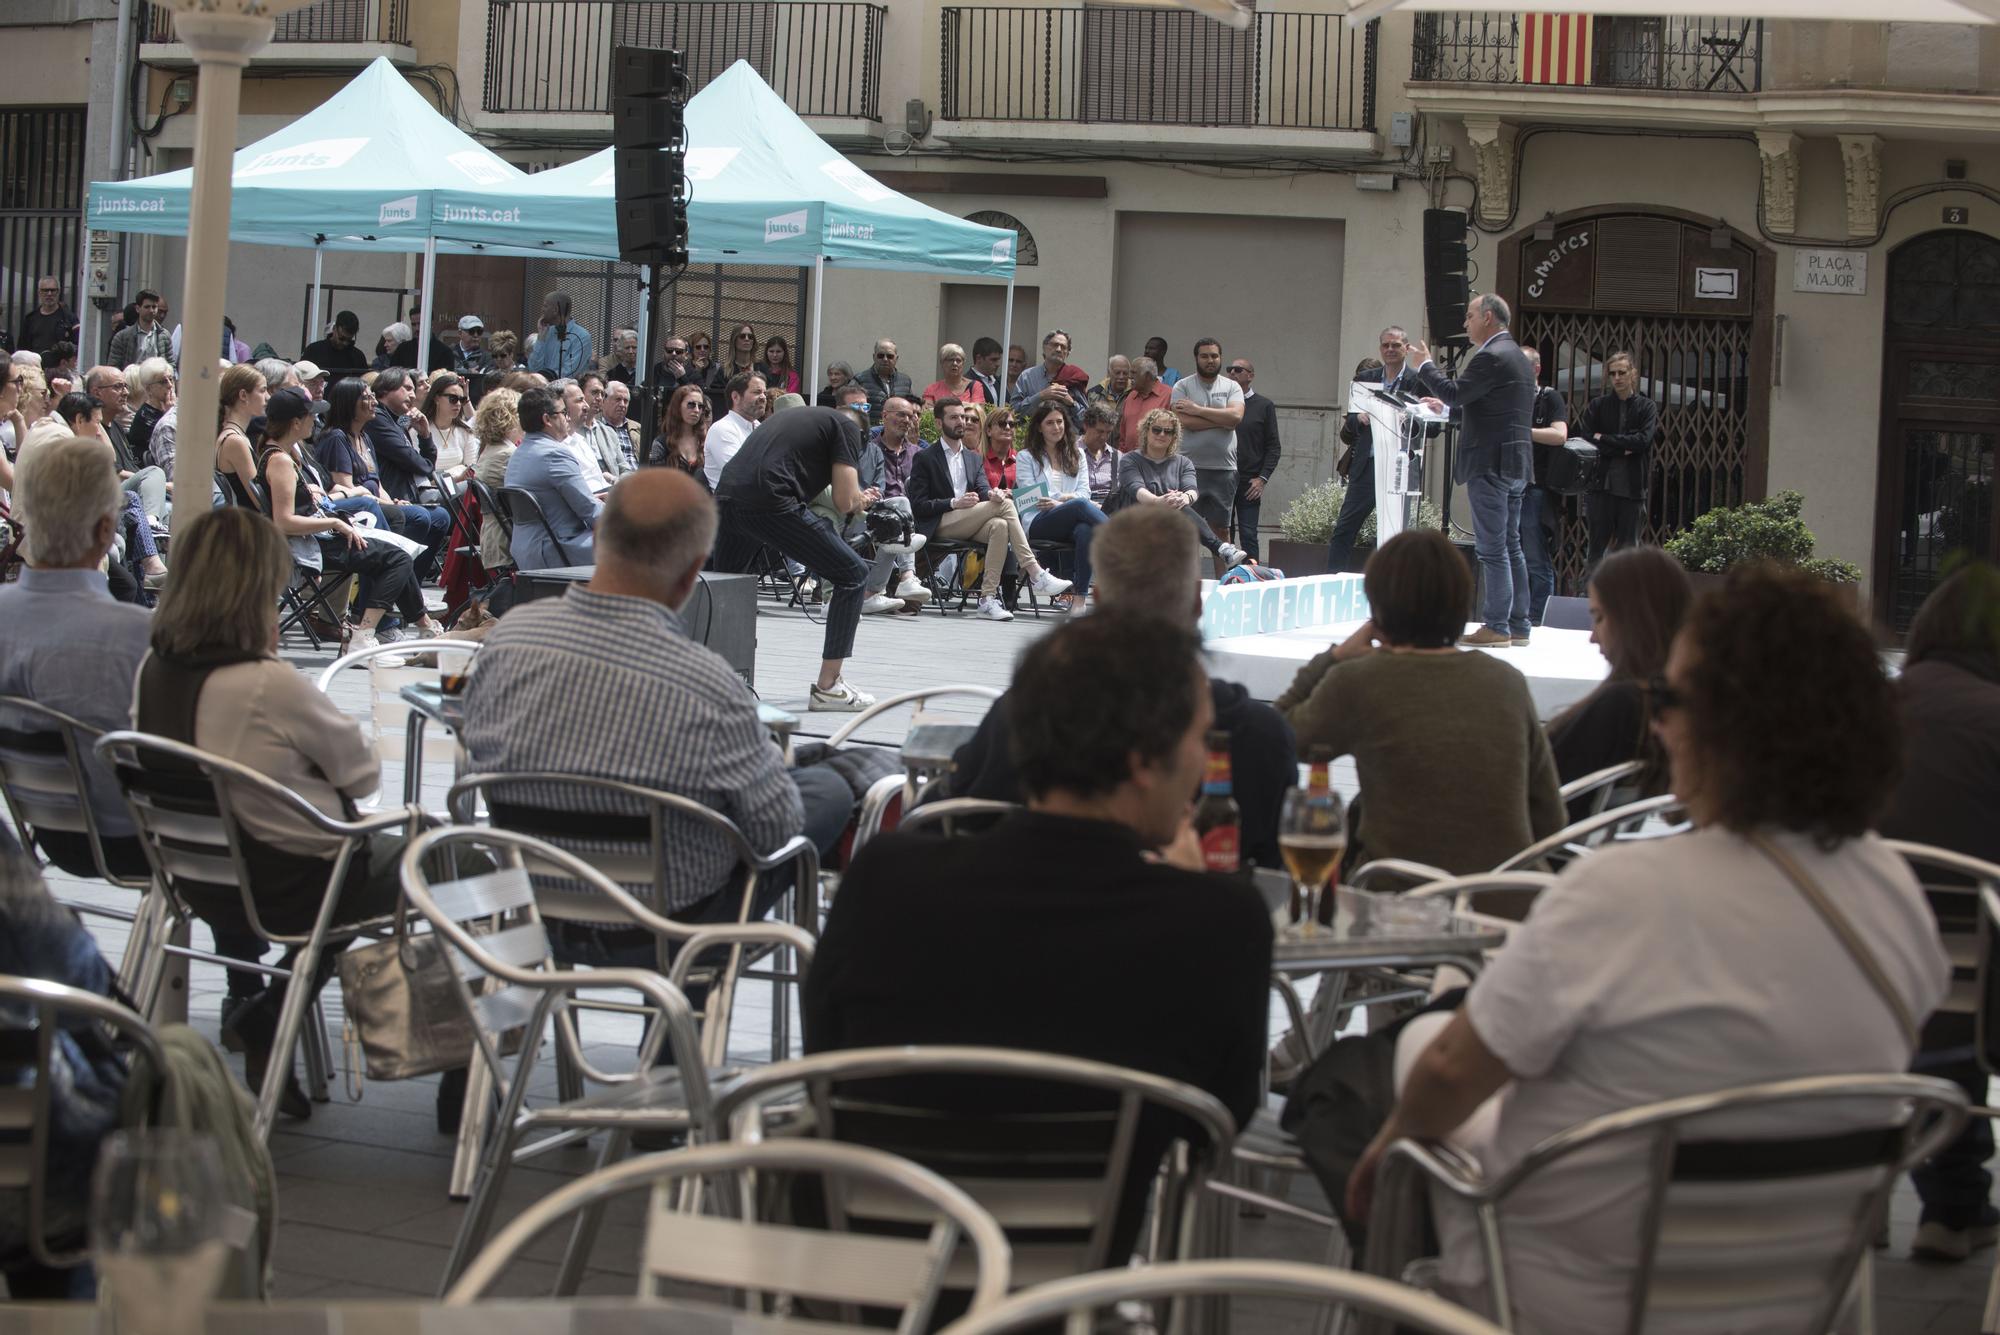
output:
[[[988,622],[1014,620],[1014,614],[1000,602],[1000,576],[1006,572],[1008,552],[1028,572],[1036,594],[1042,598],[1066,594],[1070,582],[1042,570],[1034,548],[1028,546],[1028,530],[1022,528],[1020,516],[1014,512],[1014,498],[986,482],[980,452],[966,442],[966,432],[980,428],[978,408],[968,410],[954,398],[940,398],[932,412],[938,422],[938,444],[924,446],[910,466],[908,496],[910,512],[916,516],[916,532],[932,542],[950,538],[986,544],[978,614]]]

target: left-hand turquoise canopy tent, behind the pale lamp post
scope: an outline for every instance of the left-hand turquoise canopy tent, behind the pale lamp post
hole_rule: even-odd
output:
[[[320,328],[320,256],[326,250],[424,252],[424,310],[440,244],[438,194],[498,190],[530,180],[438,114],[388,60],[284,130],[240,148],[230,172],[230,240],[312,246],[312,320]],[[194,172],[92,182],[92,228],[186,236]],[[418,340],[420,356],[430,340]]]

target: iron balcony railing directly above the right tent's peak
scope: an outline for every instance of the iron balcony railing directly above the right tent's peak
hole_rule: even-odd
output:
[[[748,60],[800,116],[880,118],[880,4],[488,0],[486,110],[610,114],[612,48],[680,50],[692,90]]]

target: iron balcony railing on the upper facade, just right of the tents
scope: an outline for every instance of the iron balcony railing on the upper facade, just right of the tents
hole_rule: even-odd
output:
[[[1376,24],[1188,10],[946,8],[946,120],[1374,130]]]

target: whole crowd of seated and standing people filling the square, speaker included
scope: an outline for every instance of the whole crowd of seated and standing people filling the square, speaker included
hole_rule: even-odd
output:
[[[670,336],[664,356],[680,372],[660,386],[662,430],[648,444],[630,420],[630,382],[614,376],[630,376],[636,346],[616,334],[612,368],[592,366],[592,340],[558,296],[528,364],[498,374],[468,366],[418,378],[394,362],[406,340],[388,350],[390,364],[340,378],[312,358],[224,370],[212,496],[168,524],[174,576],[150,614],[118,602],[102,572],[132,544],[140,556],[128,546],[124,560],[144,576],[148,506],[172,518],[172,362],[148,356],[130,374],[92,368],[84,390],[48,406],[54,428],[10,418],[0,482],[24,526],[28,568],[0,586],[10,630],[0,695],[94,727],[190,741],[342,813],[380,771],[356,721],[276,658],[278,596],[300,566],[346,570],[360,586],[350,644],[380,642],[392,620],[408,636],[436,634],[422,584],[456,522],[448,502],[472,480],[498,482],[530,494],[546,524],[516,524],[498,544],[492,530],[476,534],[490,566],[592,572],[566,598],[514,608],[486,632],[464,695],[470,767],[670,791],[728,815],[760,849],[804,837],[838,865],[862,793],[896,771],[894,759],[836,751],[788,765],[754,693],[690,640],[684,610],[706,568],[744,570],[766,548],[798,562],[830,590],[812,705],[858,709],[868,695],[844,681],[842,664],[860,618],[920,600],[914,558],[956,544],[984,558],[984,616],[1006,612],[1010,562],[1030,588],[1090,606],[1090,616],[1030,646],[956,757],[954,795],[1020,809],[944,843],[878,837],[842,869],[804,979],[808,1051],[1060,1051],[1192,1083],[1244,1125],[1274,1065],[1274,937],[1250,885],[1206,871],[1192,827],[1206,737],[1222,729],[1242,849],[1264,865],[1278,861],[1298,761],[1314,753],[1356,763],[1350,865],[1398,857],[1448,873],[1488,869],[1568,823],[1562,783],[1624,761],[1640,761],[1636,791],[1676,793],[1692,823],[1676,837],[1578,857],[1470,989],[1402,1029],[1398,1099],[1348,1181],[1350,1217],[1366,1217],[1376,1167],[1398,1137],[1450,1141],[1496,1175],[1554,1131],[1680,1093],[1902,1071],[1920,1053],[1954,1055],[1954,1079],[1968,1093],[1982,1087],[1964,1061],[1966,1035],[1940,1023],[1950,1017],[1922,1033],[1902,1023],[1936,1011],[1950,963],[1922,885],[1882,837],[2000,857],[1990,819],[2000,799],[2000,572],[1990,566],[1940,584],[1892,677],[1866,626],[1802,572],[1742,568],[1696,598],[1672,558],[1632,542],[1632,498],[1614,470],[1610,550],[1588,586],[1608,675],[1544,723],[1504,656],[1462,648],[1500,650],[1532,626],[1532,584],[1512,574],[1532,432],[1542,430],[1532,426],[1534,396],[1520,392],[1520,350],[1498,344],[1504,316],[1476,302],[1468,328],[1480,356],[1500,366],[1476,358],[1446,380],[1398,330],[1394,358],[1384,334],[1382,378],[1414,376],[1464,402],[1468,418],[1506,400],[1506,422],[1472,428],[1472,480],[1486,478],[1474,510],[1498,516],[1482,530],[1482,626],[1466,634],[1474,584],[1452,544],[1404,532],[1366,564],[1372,620],[1264,705],[1210,677],[1194,632],[1204,566],[1250,560],[1226,542],[1250,492],[1244,460],[1254,472],[1278,448],[1274,428],[1260,452],[1242,446],[1252,370],[1214,340],[1194,344],[1188,374],[1148,348],[1102,386],[1072,368],[1060,330],[1044,338],[1040,364],[1004,382],[996,344],[974,344],[970,366],[946,346],[922,394],[898,370],[894,344],[878,344],[866,372],[842,374],[816,396],[824,402],[806,404],[782,340],[758,342],[742,326],[730,358],[710,364],[698,358],[702,340]],[[352,346],[348,324],[336,318],[334,334]],[[482,328],[462,334],[472,336],[460,340],[466,350]],[[46,398],[36,380],[40,368],[10,364],[0,410]],[[1616,402],[1602,412],[1592,404],[1586,422],[1588,438],[1614,444],[1604,450],[1612,462],[1614,438],[1646,418],[1630,380],[1614,372]],[[1160,386],[1170,386],[1166,404]],[[1478,404],[1486,408],[1474,412]],[[870,506],[908,520],[912,540],[856,546],[854,522]],[[1044,564],[1042,542],[1066,544],[1068,578]],[[1498,592],[1496,566],[1510,572]],[[142,863],[116,781],[94,771],[90,795],[108,845]],[[552,785],[492,817],[546,829],[548,809],[578,837],[618,837],[632,815]],[[266,923],[298,921],[326,883],[328,841],[254,803],[242,819],[260,905],[270,901]],[[732,891],[732,847],[692,819],[664,819],[662,911],[690,923],[768,911],[778,881],[744,905]],[[90,875],[74,843],[44,841],[40,851]],[[394,839],[378,837],[354,861],[340,917],[394,905],[396,853]],[[1872,967],[1826,929],[1802,881],[1856,925]],[[0,913],[18,897],[6,885]],[[260,953],[234,893],[190,907],[222,953]],[[660,963],[652,933],[624,925],[562,923],[554,947],[574,963]],[[1022,987],[1024,957],[1038,963],[1034,987]],[[282,987],[320,987],[328,975],[330,961],[292,983],[232,971],[224,1035],[246,1049],[252,1081],[274,1057]],[[310,1103],[288,1087],[282,1111],[310,1115]],[[1990,1149],[1978,1121],[1918,1177],[1916,1245],[1926,1255],[1964,1259],[1994,1241]],[[1638,1161],[1576,1163],[1510,1207],[1524,1329],[1622,1321],[1646,1171]],[[1136,1213],[1120,1217],[1128,1225],[1136,1229]],[[1436,1231],[1446,1287],[1486,1301],[1474,1221],[1440,1201]]]

